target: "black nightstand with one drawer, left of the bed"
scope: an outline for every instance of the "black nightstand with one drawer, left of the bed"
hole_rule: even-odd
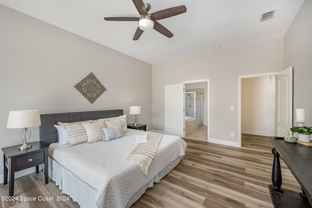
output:
[[[31,148],[20,151],[19,146],[2,148],[4,185],[8,183],[9,173],[9,196],[14,196],[14,174],[16,171],[36,166],[39,173],[39,165],[44,164],[44,180],[48,183],[48,149],[49,146],[41,142],[31,142]]]

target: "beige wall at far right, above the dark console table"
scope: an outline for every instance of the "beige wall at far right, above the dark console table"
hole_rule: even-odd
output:
[[[311,11],[312,0],[306,0],[285,35],[284,67],[293,66],[293,109],[305,109],[305,126],[312,126]],[[293,124],[297,125],[293,112]]]

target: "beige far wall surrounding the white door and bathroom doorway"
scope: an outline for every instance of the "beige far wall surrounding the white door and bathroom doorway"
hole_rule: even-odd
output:
[[[164,131],[164,85],[210,79],[210,137],[237,143],[238,76],[283,70],[283,37],[153,65],[153,128]]]

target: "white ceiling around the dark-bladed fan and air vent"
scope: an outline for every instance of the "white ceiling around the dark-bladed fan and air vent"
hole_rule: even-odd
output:
[[[134,41],[136,21],[104,17],[138,17],[132,0],[0,0],[17,11],[88,38],[150,64],[162,63],[282,37],[304,0],[143,0],[150,13],[185,5],[186,13],[158,20],[174,36],[145,31]],[[273,19],[261,13],[276,9]]]

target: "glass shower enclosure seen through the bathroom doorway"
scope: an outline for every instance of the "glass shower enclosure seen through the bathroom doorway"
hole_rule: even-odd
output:
[[[185,116],[198,118],[198,125],[202,124],[202,94],[185,93]]]

